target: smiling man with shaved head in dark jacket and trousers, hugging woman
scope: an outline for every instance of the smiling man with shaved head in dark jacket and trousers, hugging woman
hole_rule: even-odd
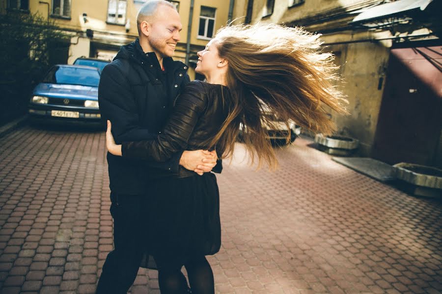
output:
[[[176,8],[165,0],[150,0],[140,8],[137,25],[139,38],[120,49],[100,78],[100,111],[111,121],[117,144],[161,133],[174,99],[189,82],[187,66],[171,58],[182,29]],[[128,160],[109,152],[107,158],[115,249],[103,265],[97,293],[127,293],[148,240],[144,220],[150,183],[183,167],[210,172],[216,154],[183,151],[163,163]],[[221,165],[217,168],[221,171]]]

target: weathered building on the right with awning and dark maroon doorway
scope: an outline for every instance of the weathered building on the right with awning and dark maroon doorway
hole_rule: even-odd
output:
[[[441,11],[440,0],[236,0],[233,19],[322,33],[350,102],[333,115],[340,133],[360,155],[441,167]]]

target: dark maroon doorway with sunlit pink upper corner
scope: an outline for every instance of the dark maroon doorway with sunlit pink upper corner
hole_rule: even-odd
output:
[[[442,46],[392,49],[372,157],[440,165]]]

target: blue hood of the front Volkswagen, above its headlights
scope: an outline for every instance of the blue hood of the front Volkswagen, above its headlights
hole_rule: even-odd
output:
[[[98,100],[98,87],[41,83],[35,87],[33,95],[49,98]]]

